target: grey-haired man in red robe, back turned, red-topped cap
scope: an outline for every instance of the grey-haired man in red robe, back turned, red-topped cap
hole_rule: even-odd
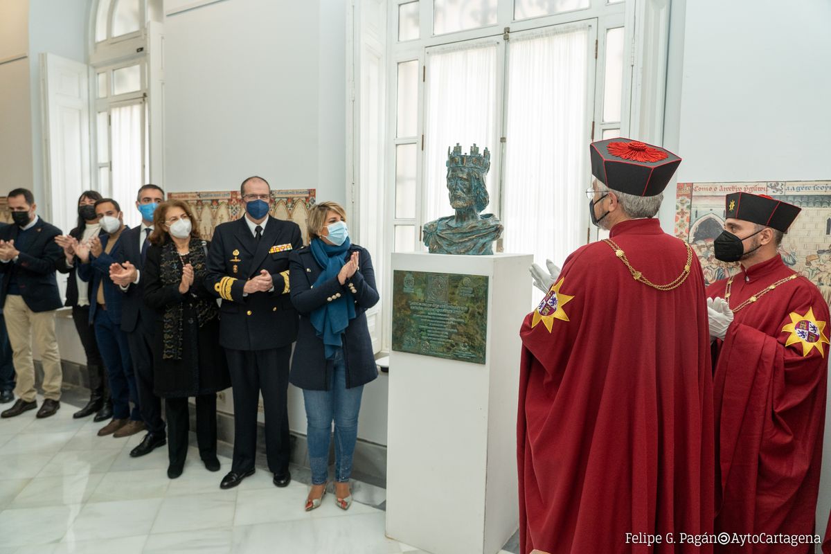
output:
[[[610,238],[566,259],[520,331],[521,552],[712,552],[689,538],[712,532],[715,488],[704,280],[654,218],[681,159],[590,152]]]

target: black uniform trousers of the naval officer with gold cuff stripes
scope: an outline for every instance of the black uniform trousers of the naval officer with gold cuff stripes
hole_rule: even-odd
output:
[[[292,347],[264,351],[225,350],[234,387],[234,463],[231,471],[254,467],[257,452],[257,411],[263,392],[265,453],[272,473],[288,471],[288,360]]]

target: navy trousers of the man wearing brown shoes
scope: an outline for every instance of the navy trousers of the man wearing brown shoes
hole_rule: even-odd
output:
[[[110,380],[113,419],[141,421],[139,404],[135,395],[135,378],[130,360],[130,347],[127,335],[117,323],[113,323],[106,311],[98,306],[96,310],[96,341],[101,359],[106,365],[107,378]],[[133,410],[130,413],[130,402]]]

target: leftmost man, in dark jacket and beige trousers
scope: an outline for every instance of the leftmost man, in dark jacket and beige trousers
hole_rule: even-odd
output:
[[[41,351],[43,405],[38,418],[47,418],[61,407],[61,353],[55,336],[55,311],[61,307],[55,270],[63,251],[55,243],[61,230],[35,213],[37,205],[28,189],[8,194],[14,224],[0,229],[0,304],[12,344],[17,374],[17,402],[4,411],[11,418],[35,409],[35,365],[32,342]]]

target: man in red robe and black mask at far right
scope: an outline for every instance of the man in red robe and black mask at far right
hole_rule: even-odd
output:
[[[715,532],[814,535],[822,461],[829,309],[777,252],[796,206],[726,197],[715,257],[740,272],[707,288],[715,373]],[[814,545],[729,542],[716,552],[804,554]]]

